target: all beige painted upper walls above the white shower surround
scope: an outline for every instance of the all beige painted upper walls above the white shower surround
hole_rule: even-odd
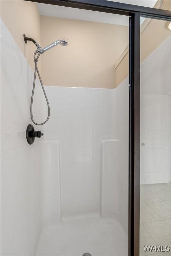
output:
[[[128,27],[40,17],[37,4],[23,0],[1,0],[0,5],[2,20],[33,69],[35,46],[24,43],[23,33],[42,46],[68,37],[67,47],[55,47],[40,58],[45,85],[114,88],[128,76],[128,54],[114,68],[121,53],[118,49],[124,49],[128,42]],[[170,10],[171,1],[163,1],[162,9]],[[141,61],[170,36],[165,24],[152,20],[141,34]]]

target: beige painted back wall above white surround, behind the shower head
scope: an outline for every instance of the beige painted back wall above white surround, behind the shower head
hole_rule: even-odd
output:
[[[114,63],[128,44],[128,27],[41,16],[42,47],[68,38],[42,54],[45,85],[114,88]]]

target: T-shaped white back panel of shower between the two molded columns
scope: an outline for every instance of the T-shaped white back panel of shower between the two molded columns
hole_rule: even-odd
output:
[[[99,210],[100,142],[111,137],[111,90],[46,87],[48,140],[61,144],[63,213]]]

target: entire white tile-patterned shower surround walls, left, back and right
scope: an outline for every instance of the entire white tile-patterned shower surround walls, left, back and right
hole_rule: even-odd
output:
[[[165,69],[160,72],[163,81]],[[110,209],[127,230],[128,78],[116,89],[46,87],[50,119],[35,127],[44,136],[30,146],[25,131],[31,123],[32,82],[33,70],[1,20],[1,254],[34,255],[47,221],[106,213],[109,204],[102,191],[106,186],[112,193],[113,188],[109,175],[102,179],[102,172],[117,173],[112,177],[118,181],[114,203],[119,209]],[[36,83],[33,108],[39,122],[47,110]],[[122,141],[119,150],[114,139]],[[109,157],[102,153],[102,141]],[[116,153],[113,159],[111,152]]]

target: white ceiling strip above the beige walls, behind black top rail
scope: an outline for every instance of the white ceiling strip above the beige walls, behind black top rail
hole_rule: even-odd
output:
[[[156,0],[117,0],[115,2],[153,7],[156,3]],[[37,5],[40,15],[128,26],[128,16],[42,3],[37,3]],[[141,23],[143,20],[144,18],[142,18]]]

